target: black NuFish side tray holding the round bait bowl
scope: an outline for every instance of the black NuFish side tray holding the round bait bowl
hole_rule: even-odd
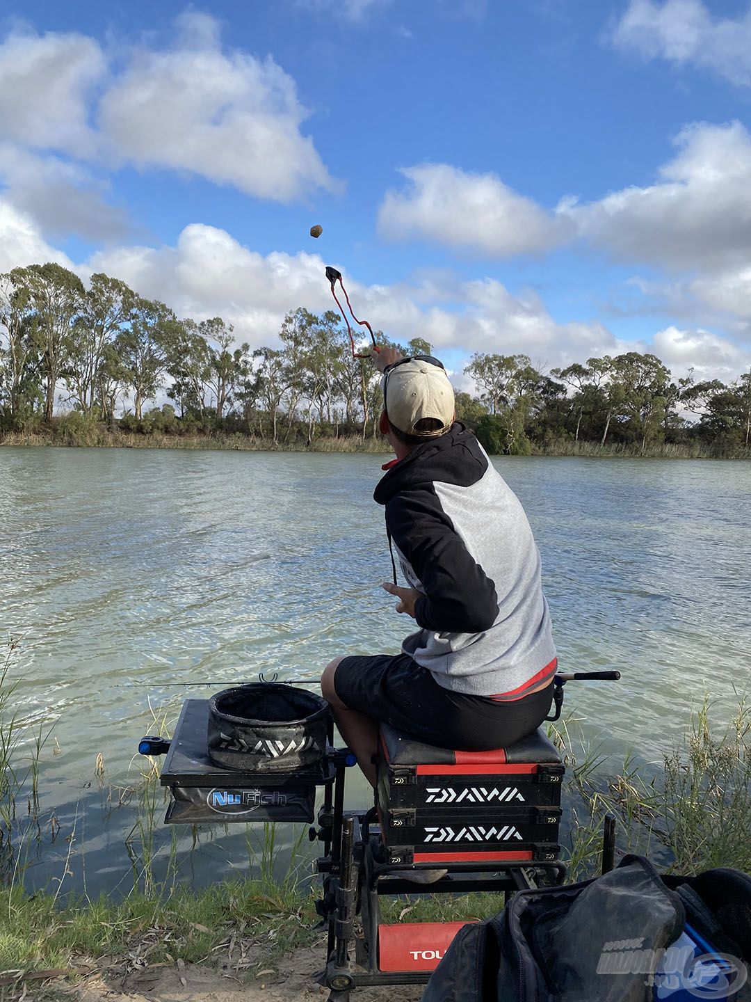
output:
[[[171,794],[167,825],[312,822],[315,787],[333,778],[330,758],[289,774],[225,769],[208,754],[208,699],[186,699],[160,783]]]

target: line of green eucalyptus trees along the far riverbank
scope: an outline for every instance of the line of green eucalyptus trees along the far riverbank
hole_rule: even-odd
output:
[[[221,318],[178,319],[119,279],[86,288],[56,264],[0,275],[0,429],[51,426],[56,402],[113,433],[252,435],[311,445],[378,434],[380,380],[352,358],[337,313],[299,307],[284,318],[279,347],[237,346]],[[377,340],[388,342],[382,332]],[[416,338],[404,354],[430,354]],[[477,353],[465,369],[477,394],[457,394],[457,416],[494,453],[555,450],[561,442],[698,443],[734,455],[751,440],[751,372],[726,385],[674,380],[649,353],[591,358],[542,372],[525,354]],[[163,392],[171,401],[153,406]],[[147,407],[148,404],[152,406]]]

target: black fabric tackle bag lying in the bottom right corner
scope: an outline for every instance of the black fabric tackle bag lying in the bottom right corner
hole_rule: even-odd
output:
[[[670,970],[687,922],[729,958],[724,994],[707,985],[691,995],[749,1002],[751,878],[661,878],[639,856],[591,881],[520,892],[500,915],[465,926],[423,1002],[652,1002],[670,986],[659,965]]]

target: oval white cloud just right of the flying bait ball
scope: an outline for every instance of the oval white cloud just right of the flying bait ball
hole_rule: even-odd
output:
[[[447,163],[401,172],[408,188],[389,191],[379,212],[379,229],[387,238],[426,238],[509,258],[549,250],[573,233],[568,217],[546,211],[495,174],[468,173]]]

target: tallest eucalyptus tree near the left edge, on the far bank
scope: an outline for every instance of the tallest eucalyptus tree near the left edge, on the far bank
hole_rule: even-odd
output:
[[[61,265],[29,265],[10,273],[17,289],[26,290],[36,315],[34,340],[44,380],[44,420],[51,421],[55,390],[75,350],[75,325],[85,301],[83,283]]]

